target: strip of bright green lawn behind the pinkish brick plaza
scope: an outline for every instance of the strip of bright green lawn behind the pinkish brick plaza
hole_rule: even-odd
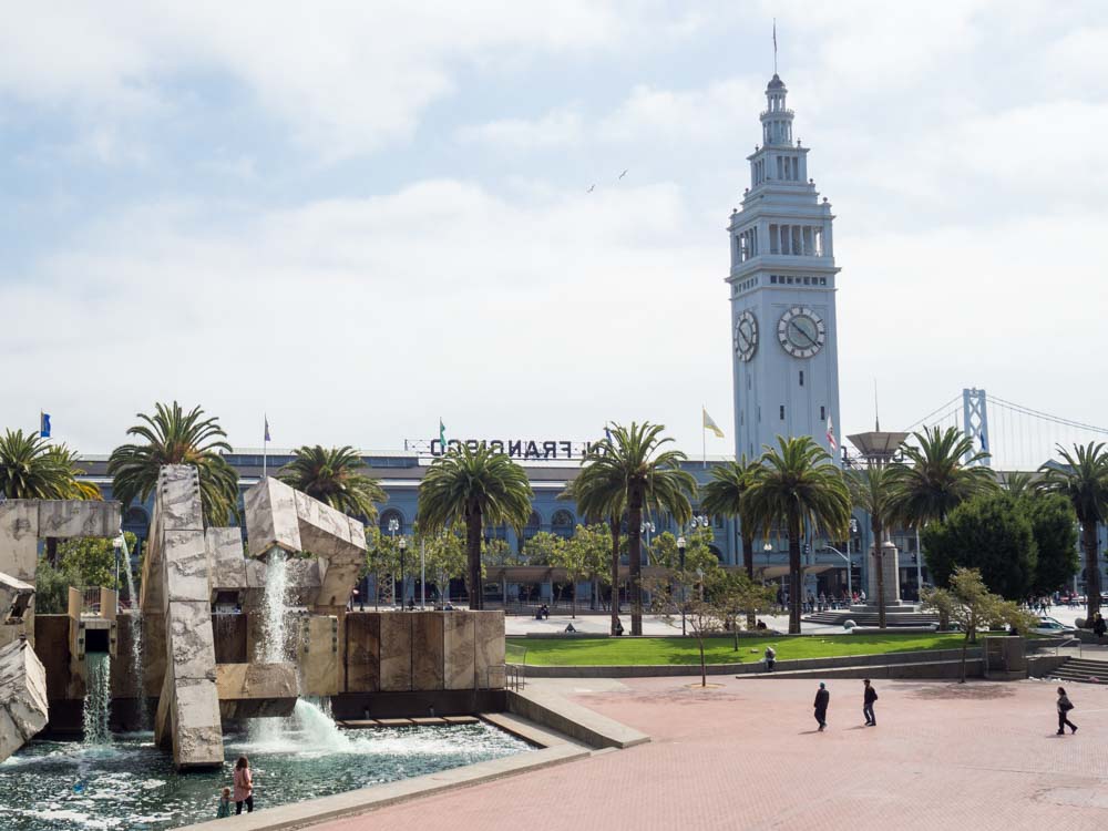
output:
[[[705,640],[709,664],[748,664],[762,659],[767,644],[777,649],[778,660],[831,658],[841,655],[875,655],[919,649],[955,649],[960,634],[943,635],[809,635],[804,637],[739,638],[739,650],[729,637]],[[696,638],[582,638],[579,640],[507,638],[507,659],[519,663],[526,649],[526,663],[535,666],[699,665]]]

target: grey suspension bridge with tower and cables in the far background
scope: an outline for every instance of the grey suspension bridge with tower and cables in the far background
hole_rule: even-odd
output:
[[[1018,404],[983,389],[964,389],[961,396],[935,408],[904,428],[955,428],[972,441],[974,450],[988,453],[988,464],[1003,471],[1035,471],[1058,460],[1058,445],[1108,442],[1108,427],[1097,427]]]

